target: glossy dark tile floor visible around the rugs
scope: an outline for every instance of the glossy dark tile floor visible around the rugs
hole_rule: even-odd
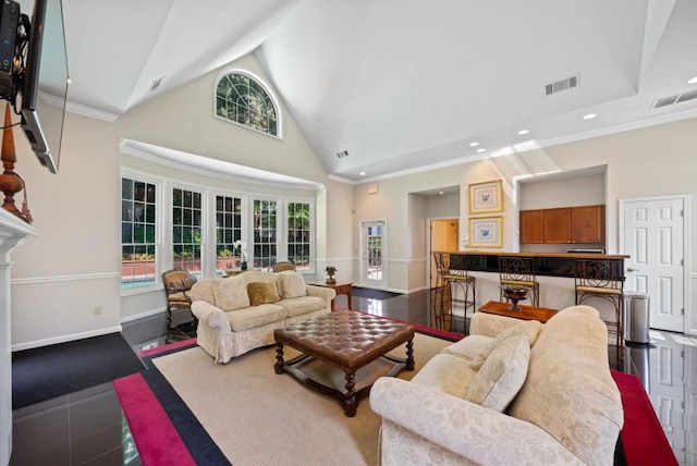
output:
[[[337,298],[346,306],[345,296]],[[430,304],[430,293],[377,301],[354,296],[353,307],[378,316],[429,327],[442,327]],[[453,321],[463,331],[463,321]],[[148,318],[123,326],[123,335],[140,351],[166,343],[164,319]],[[658,413],[681,465],[697,466],[697,336],[651,331],[651,344],[627,347],[617,364],[638,375]],[[11,466],[139,465],[140,459],[111,383],[93,387],[13,413]]]

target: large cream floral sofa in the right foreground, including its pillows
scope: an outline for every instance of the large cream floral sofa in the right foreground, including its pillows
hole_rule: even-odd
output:
[[[382,465],[611,465],[624,421],[607,328],[589,306],[546,324],[475,312],[412,379],[380,378]]]

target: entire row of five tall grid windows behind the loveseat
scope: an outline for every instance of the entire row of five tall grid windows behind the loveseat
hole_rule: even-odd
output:
[[[212,193],[145,175],[121,177],[122,289],[158,283],[169,268],[222,277],[243,261],[310,270],[314,200]]]

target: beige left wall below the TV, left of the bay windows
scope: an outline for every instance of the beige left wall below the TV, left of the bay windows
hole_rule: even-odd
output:
[[[120,306],[119,137],[115,125],[66,114],[59,175],[19,130],[16,172],[40,234],[13,256],[12,347],[118,331]],[[21,198],[21,197],[20,197]],[[95,307],[101,314],[95,315]]]

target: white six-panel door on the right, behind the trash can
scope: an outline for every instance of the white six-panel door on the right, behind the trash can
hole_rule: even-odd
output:
[[[625,290],[649,296],[649,324],[684,331],[684,204],[682,197],[622,201],[624,226],[621,250],[625,260]]]

